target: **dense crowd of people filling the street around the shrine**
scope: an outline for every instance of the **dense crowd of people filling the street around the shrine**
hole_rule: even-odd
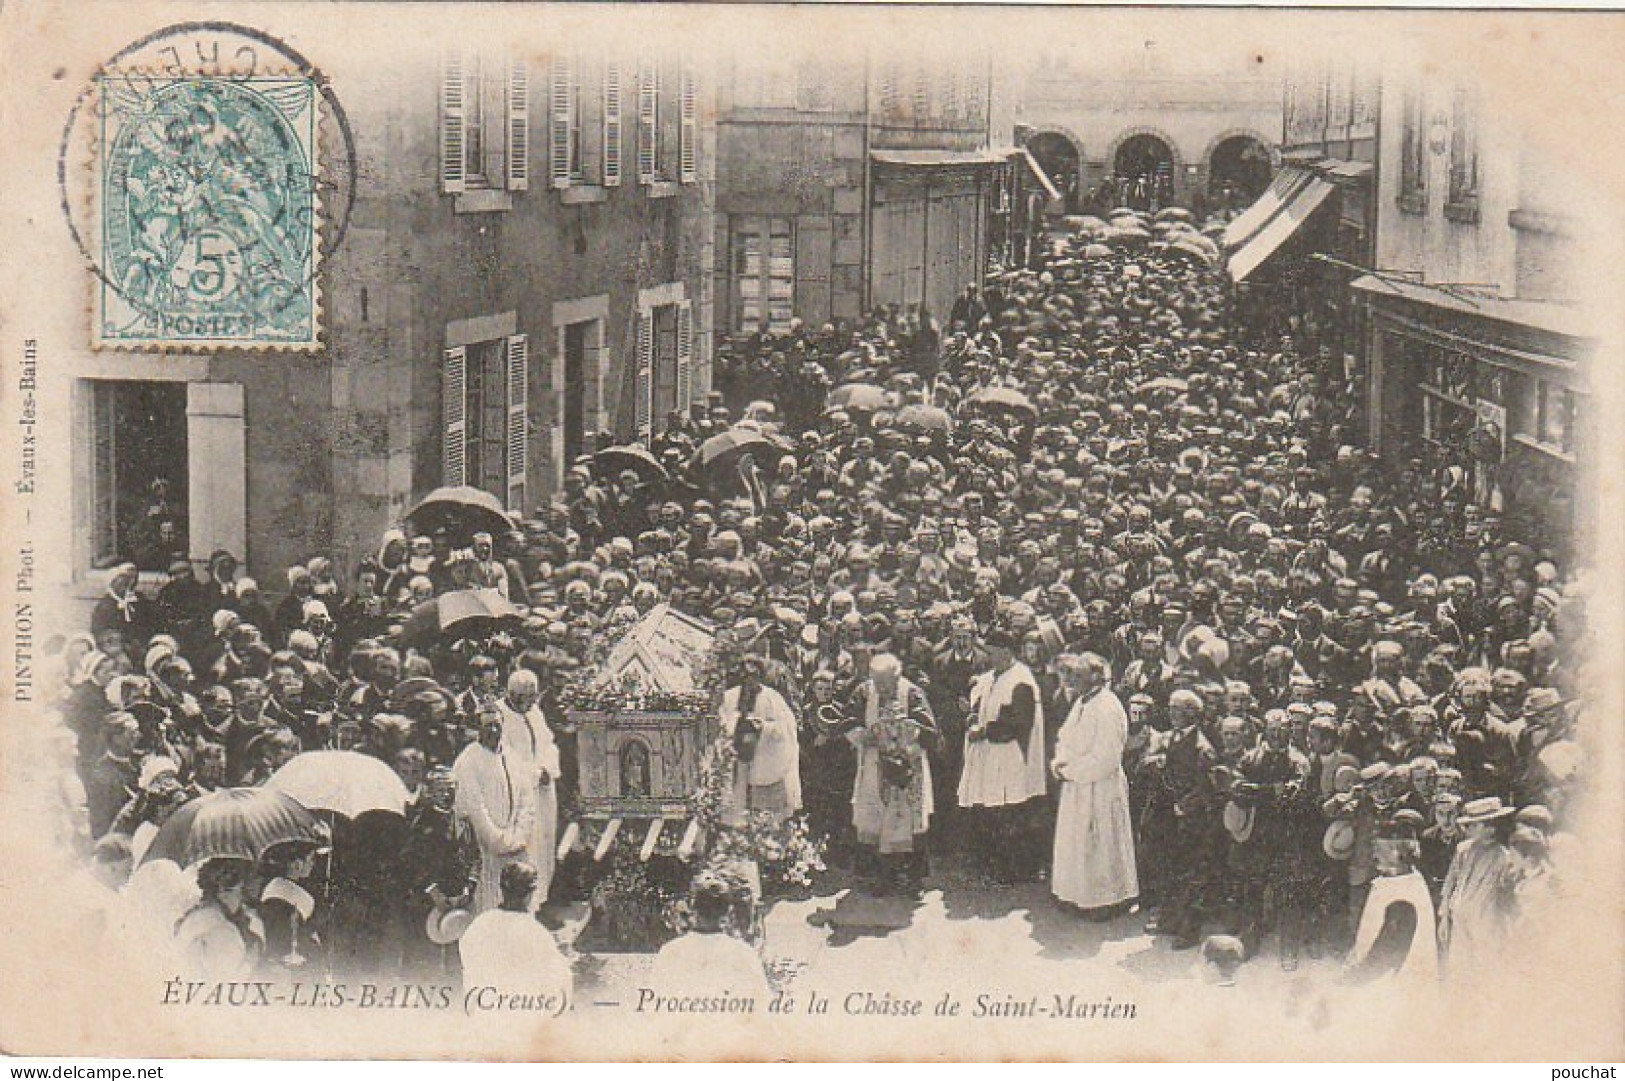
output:
[[[949,860],[1087,918],[1138,904],[1176,948],[1399,970],[1436,936],[1451,972],[1560,894],[1583,590],[1453,462],[1360,449],[1342,358],[1251,333],[1220,268],[1058,237],[944,328],[886,309],[751,356],[845,405],[713,395],[655,439],[665,470],[582,460],[510,530],[390,530],[275,606],[231,553],[156,590],[120,567],[60,699],[107,881],[185,801],[358,749],[406,814],[340,823],[322,889],[306,849],[208,870],[182,927],[247,941],[280,897],[328,910],[335,957],[434,961],[426,920],[562,889],[567,684],[670,603],[734,658],[738,810],[804,813],[874,889]],[[710,468],[730,429],[760,439]],[[419,636],[462,588],[522,618]],[[535,889],[504,884],[520,862]]]

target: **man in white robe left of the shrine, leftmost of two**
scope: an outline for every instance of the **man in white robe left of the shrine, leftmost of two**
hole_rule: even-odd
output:
[[[526,761],[502,746],[502,710],[496,702],[479,709],[479,741],[470,743],[452,764],[457,780],[457,814],[479,844],[479,883],[474,912],[502,901],[502,868],[530,862],[536,826],[536,787]]]

